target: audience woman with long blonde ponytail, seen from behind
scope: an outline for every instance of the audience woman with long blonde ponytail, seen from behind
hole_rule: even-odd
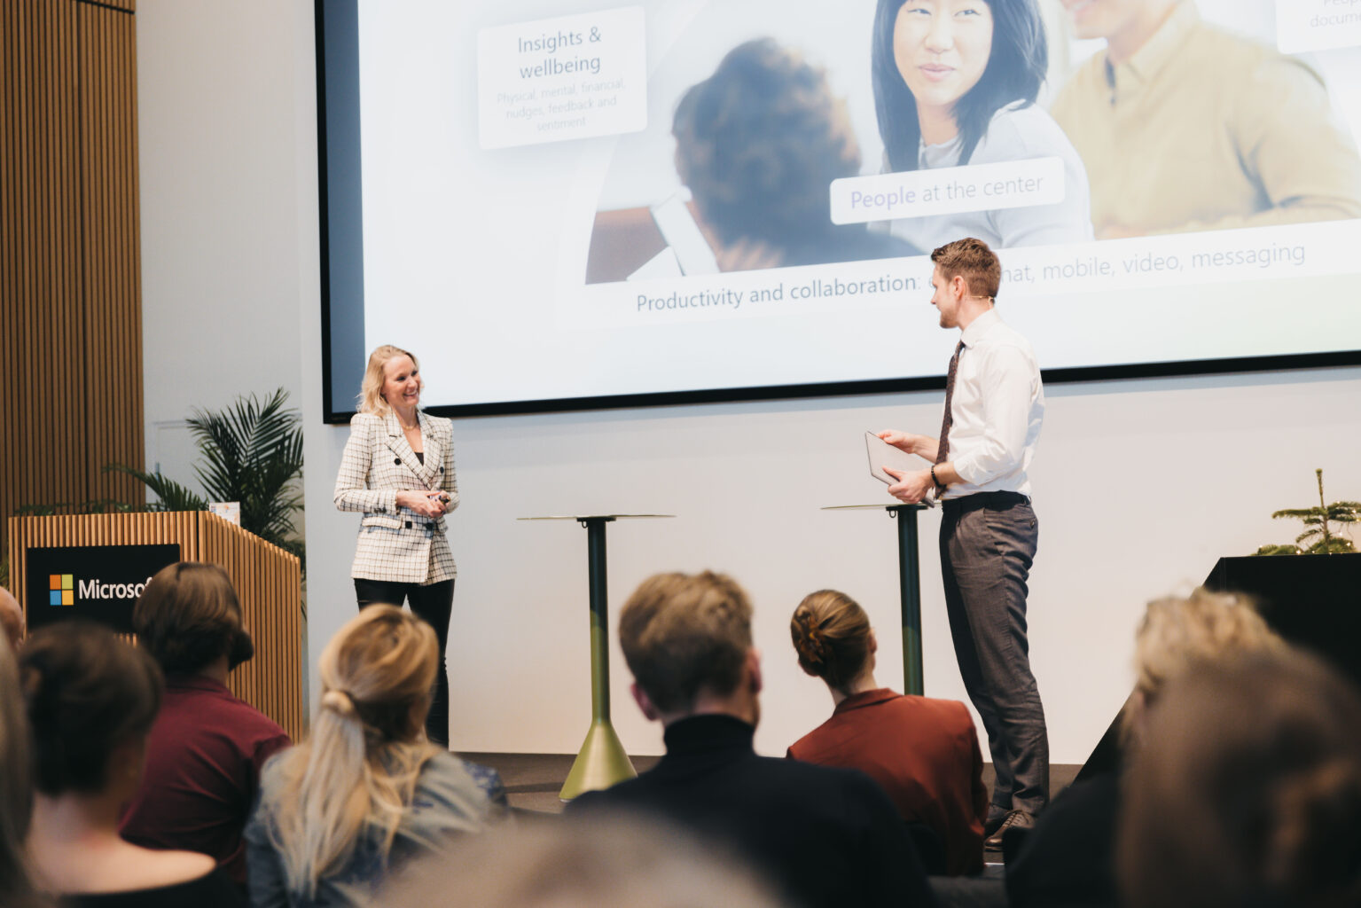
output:
[[[491,800],[422,721],[430,625],[392,606],[351,618],[321,653],[312,736],[272,758],[246,825],[250,904],[367,904],[393,866],[479,832]]]

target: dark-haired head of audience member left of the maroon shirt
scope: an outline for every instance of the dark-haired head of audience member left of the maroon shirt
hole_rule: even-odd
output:
[[[151,656],[87,621],[34,632],[19,678],[34,785],[45,795],[103,791],[110,751],[146,738],[161,708],[161,671]]]

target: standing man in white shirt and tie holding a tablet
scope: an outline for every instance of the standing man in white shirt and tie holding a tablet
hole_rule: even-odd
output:
[[[969,692],[992,750],[996,785],[985,841],[1002,847],[1013,826],[1033,825],[1049,799],[1049,741],[1030,672],[1026,579],[1038,540],[1026,475],[1044,421],[1044,388],[1030,343],[994,309],[1002,267],[981,240],[931,253],[931,304],[942,328],[960,328],[946,378],[939,438],[879,437],[931,463],[887,472],[890,494],[942,502],[940,573],[946,613]]]

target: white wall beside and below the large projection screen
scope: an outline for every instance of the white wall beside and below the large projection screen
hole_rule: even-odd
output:
[[[147,421],[241,389],[301,388],[306,414],[309,662],[352,614],[355,515],[331,508],[344,427],[323,426],[312,4],[143,0],[139,90]],[[924,317],[924,316],[923,316]],[[418,351],[419,353],[419,351]],[[427,376],[438,381],[440,376]],[[290,384],[294,383],[294,384]],[[1030,638],[1056,762],[1081,762],[1130,685],[1142,603],[1221,554],[1290,539],[1270,512],[1361,486],[1361,369],[1052,385],[1036,457]],[[901,686],[894,524],[870,502],[860,433],[935,432],[939,393],[460,419],[461,570],[449,647],[453,745],[574,751],[589,717],[585,532],[519,516],[663,512],[608,528],[612,610],[653,570],[716,568],[751,592],[766,653],[758,747],[781,753],[830,709],[788,615],[818,587],[856,596]],[[150,453],[150,448],[148,448]],[[934,536],[921,519],[925,683],[962,697]],[[615,726],[657,753],[612,651]]]

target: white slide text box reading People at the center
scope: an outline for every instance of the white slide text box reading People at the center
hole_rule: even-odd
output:
[[[832,222],[1052,206],[1063,193],[1063,158],[878,173],[832,181]]]

